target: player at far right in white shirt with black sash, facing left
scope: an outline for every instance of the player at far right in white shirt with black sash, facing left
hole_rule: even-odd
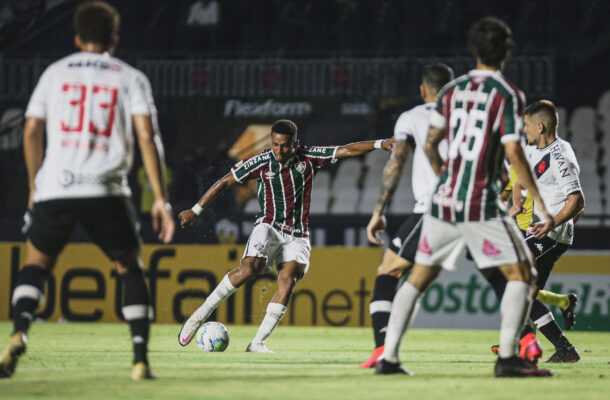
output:
[[[557,136],[558,116],[555,105],[548,100],[537,101],[525,110],[524,131],[527,135],[527,158],[536,175],[545,204],[555,214],[556,226],[546,235],[538,237],[544,215],[534,210],[532,224],[527,230],[526,242],[536,257],[538,278],[534,289],[544,288],[555,262],[572,244],[574,222],[583,211],[585,199],[580,187],[580,168],[572,146]],[[523,211],[521,206],[521,183],[515,183],[515,205],[512,214]],[[535,202],[534,202],[535,203]],[[547,362],[571,363],[580,360],[578,350],[570,343],[553,318],[553,314],[540,300],[532,304],[530,317],[538,330],[555,346]],[[570,322],[566,319],[566,324]],[[573,323],[573,318],[571,320]],[[521,336],[533,333],[532,327],[525,326]]]

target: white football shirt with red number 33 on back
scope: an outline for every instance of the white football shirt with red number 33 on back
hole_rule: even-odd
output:
[[[34,202],[130,196],[132,115],[156,115],[146,76],[108,53],[79,52],[40,77],[26,117],[45,120]]]

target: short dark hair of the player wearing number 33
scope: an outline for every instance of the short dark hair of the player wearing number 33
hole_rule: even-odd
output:
[[[92,1],[78,7],[74,14],[74,31],[83,43],[110,46],[119,32],[119,12],[104,1]]]

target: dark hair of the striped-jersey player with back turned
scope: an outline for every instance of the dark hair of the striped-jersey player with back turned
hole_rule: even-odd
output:
[[[485,65],[499,67],[514,46],[510,28],[495,17],[481,18],[468,31],[468,49]]]

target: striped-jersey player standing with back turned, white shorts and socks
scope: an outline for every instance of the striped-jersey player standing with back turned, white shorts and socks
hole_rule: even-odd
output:
[[[554,226],[521,148],[524,96],[501,73],[513,47],[512,32],[499,19],[486,17],[470,28],[468,45],[476,69],[441,90],[430,120],[425,150],[440,178],[424,215],[415,265],[392,303],[377,374],[410,374],[399,363],[398,346],[415,304],[441,269],[453,268],[467,248],[479,269],[499,266],[508,281],[495,376],[551,375],[517,355],[517,337],[531,304],[533,262],[515,221],[498,201],[506,156],[544,217],[535,235],[544,237]],[[438,144],[445,137],[449,150],[443,163]]]

